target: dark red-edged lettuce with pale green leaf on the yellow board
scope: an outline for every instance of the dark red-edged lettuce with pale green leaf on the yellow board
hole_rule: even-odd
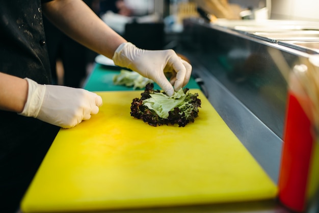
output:
[[[141,96],[140,99],[133,99],[130,114],[151,126],[175,123],[185,126],[198,117],[201,100],[197,98],[197,93],[191,94],[188,88],[168,96],[164,92],[153,90],[153,84],[147,84]]]

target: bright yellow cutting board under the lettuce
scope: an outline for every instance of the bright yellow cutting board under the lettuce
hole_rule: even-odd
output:
[[[61,129],[23,212],[108,210],[275,198],[277,186],[200,90],[199,117],[153,127],[130,116],[142,91],[98,92],[100,112]]]

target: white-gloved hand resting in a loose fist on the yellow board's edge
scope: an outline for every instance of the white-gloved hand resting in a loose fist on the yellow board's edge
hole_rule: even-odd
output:
[[[84,89],[40,85],[29,78],[28,99],[20,115],[64,128],[74,127],[97,114],[102,98]]]

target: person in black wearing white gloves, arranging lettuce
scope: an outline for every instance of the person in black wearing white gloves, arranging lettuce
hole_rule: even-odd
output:
[[[189,82],[192,67],[173,50],[143,50],[127,42],[83,1],[0,1],[0,211],[10,213],[59,128],[90,119],[102,104],[95,93],[50,85],[42,12],[79,43],[151,78],[168,95]],[[166,72],[173,73],[170,82]]]

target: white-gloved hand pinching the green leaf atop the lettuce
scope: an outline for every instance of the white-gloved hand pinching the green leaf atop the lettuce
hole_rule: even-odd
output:
[[[122,43],[113,56],[114,64],[134,70],[152,79],[167,95],[187,85],[190,81],[192,66],[179,58],[172,49],[145,50],[127,42]],[[165,74],[170,75],[170,82]],[[174,85],[174,89],[173,86]]]

